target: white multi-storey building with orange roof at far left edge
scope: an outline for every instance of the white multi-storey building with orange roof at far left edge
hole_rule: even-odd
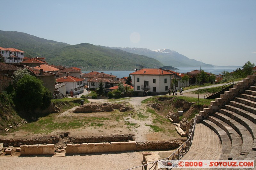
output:
[[[4,63],[20,63],[24,58],[24,51],[16,48],[2,48],[0,53],[3,55]]]

